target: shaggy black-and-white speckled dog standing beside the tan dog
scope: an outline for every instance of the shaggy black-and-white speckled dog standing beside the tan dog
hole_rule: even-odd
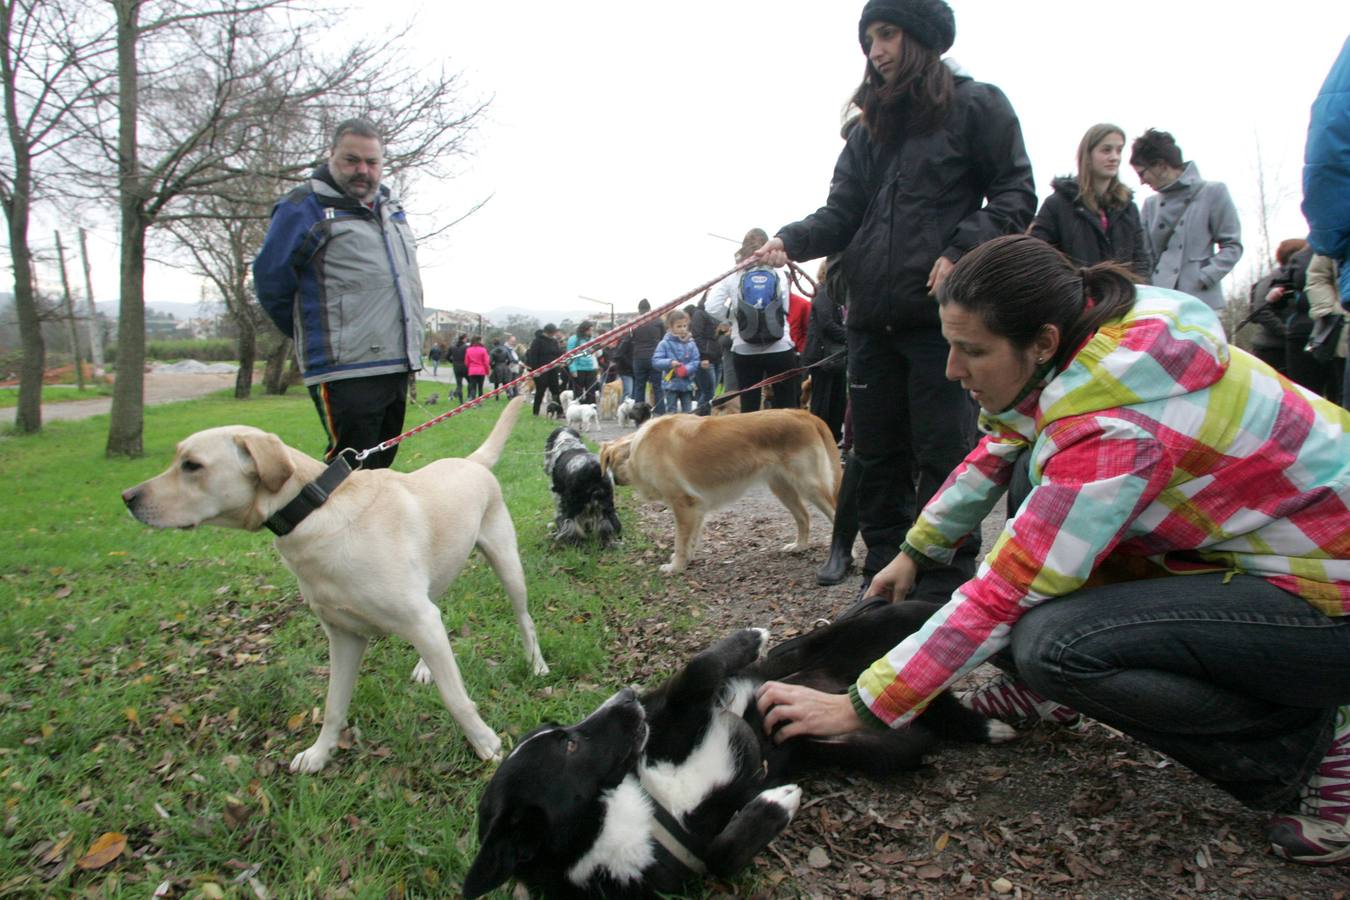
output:
[[[552,479],[554,540],[579,544],[590,537],[609,546],[624,533],[614,511],[614,480],[599,456],[571,428],[555,428],[544,444],[544,472]]]

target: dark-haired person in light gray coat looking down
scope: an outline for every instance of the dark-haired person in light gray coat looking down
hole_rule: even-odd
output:
[[[1143,201],[1143,242],[1153,254],[1150,282],[1197,297],[1212,309],[1226,301],[1219,282],[1242,259],[1242,225],[1228,189],[1204,181],[1165,131],[1148,130],[1130,148],[1130,166],[1154,193]]]

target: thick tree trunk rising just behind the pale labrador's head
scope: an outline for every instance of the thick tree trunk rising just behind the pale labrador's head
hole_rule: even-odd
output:
[[[117,304],[117,376],[112,385],[108,456],[140,456],[144,432],[146,217],[136,152],[136,38],[139,0],[117,11],[117,205],[122,209],[122,298]]]

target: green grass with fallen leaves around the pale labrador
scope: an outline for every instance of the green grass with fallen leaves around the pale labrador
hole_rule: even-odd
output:
[[[498,409],[409,440],[397,467],[471,452]],[[373,645],[350,746],[323,773],[293,776],[290,757],[319,730],[327,642],[270,534],[158,532],[122,505],[180,437],[235,422],[320,451],[302,391],[150,407],[139,460],[104,457],[105,417],[0,441],[0,896],[458,892],[491,768],[435,690],[409,681],[412,648]],[[441,603],[468,692],[508,746],[625,683],[609,661],[610,625],[659,590],[651,561],[637,563],[649,545],[636,529],[609,553],[549,545],[549,429],[524,416],[495,471],[552,673],[529,675],[477,555]]]

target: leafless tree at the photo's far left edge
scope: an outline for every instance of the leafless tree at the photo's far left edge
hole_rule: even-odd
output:
[[[107,28],[90,24],[88,3],[80,0],[0,0],[0,78],[4,81],[7,165],[0,166],[0,206],[4,206],[14,267],[15,313],[23,362],[15,426],[42,428],[42,372],[46,343],[35,291],[28,223],[47,157],[97,121],[97,101],[107,84],[101,57],[111,49]]]

